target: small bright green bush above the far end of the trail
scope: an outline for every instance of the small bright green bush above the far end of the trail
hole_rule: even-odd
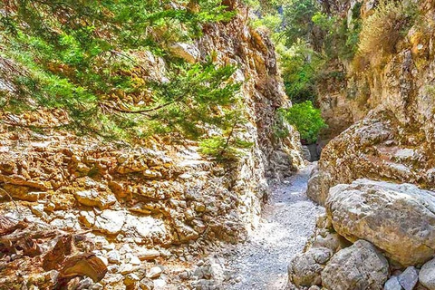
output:
[[[295,126],[301,134],[301,139],[315,142],[319,131],[326,127],[320,110],[315,109],[312,102],[296,103],[293,107],[283,110],[285,120]]]

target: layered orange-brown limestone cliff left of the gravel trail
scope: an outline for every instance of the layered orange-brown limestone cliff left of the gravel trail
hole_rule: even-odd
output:
[[[205,26],[197,43],[177,43],[173,53],[195,62],[216,52],[218,63],[239,67],[235,77],[243,82],[247,139],[254,145],[233,164],[208,160],[189,140],[183,146],[157,138],[148,146],[129,146],[11,126],[53,124],[64,118],[62,111],[3,114],[0,213],[36,225],[35,230],[86,237],[109,272],[97,284],[74,283],[90,289],[149,289],[149,278],[167,267],[157,283],[189,284],[189,276],[182,282],[172,274],[188,269],[210,242],[244,239],[266,199],[267,178],[287,176],[302,164],[298,134],[290,128],[283,140],[273,131],[276,109],[289,105],[274,47],[265,33],[247,24],[243,7],[230,6],[237,10],[233,20]],[[150,75],[161,75],[162,60],[147,53],[143,58]],[[58,237],[40,239],[38,247],[50,249]],[[58,272],[44,271],[40,257],[5,259],[0,285],[53,287]],[[160,270],[150,269],[156,265]]]

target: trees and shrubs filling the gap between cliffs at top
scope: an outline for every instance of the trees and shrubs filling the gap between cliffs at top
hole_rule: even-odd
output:
[[[253,25],[272,32],[285,92],[292,102],[315,102],[318,84],[331,74],[324,73],[331,71],[328,65],[351,61],[357,51],[361,4],[354,5],[350,23],[347,17],[328,14],[314,0],[284,0],[272,6],[275,10],[256,5],[261,15]]]

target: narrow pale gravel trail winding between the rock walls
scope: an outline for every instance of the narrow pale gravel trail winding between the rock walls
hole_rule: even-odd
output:
[[[259,227],[228,257],[228,266],[239,282],[226,289],[285,289],[288,263],[303,250],[314,232],[315,218],[324,212],[304,194],[313,167],[305,167],[272,188]]]

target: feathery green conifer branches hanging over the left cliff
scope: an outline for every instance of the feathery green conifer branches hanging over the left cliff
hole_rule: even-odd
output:
[[[202,25],[231,19],[218,0],[13,0],[0,4],[0,59],[14,63],[0,94],[4,111],[66,111],[63,128],[131,140],[152,134],[203,138],[207,126],[233,125],[237,69],[189,64],[171,43],[191,42]],[[151,81],[142,54],[163,57],[167,73]]]

